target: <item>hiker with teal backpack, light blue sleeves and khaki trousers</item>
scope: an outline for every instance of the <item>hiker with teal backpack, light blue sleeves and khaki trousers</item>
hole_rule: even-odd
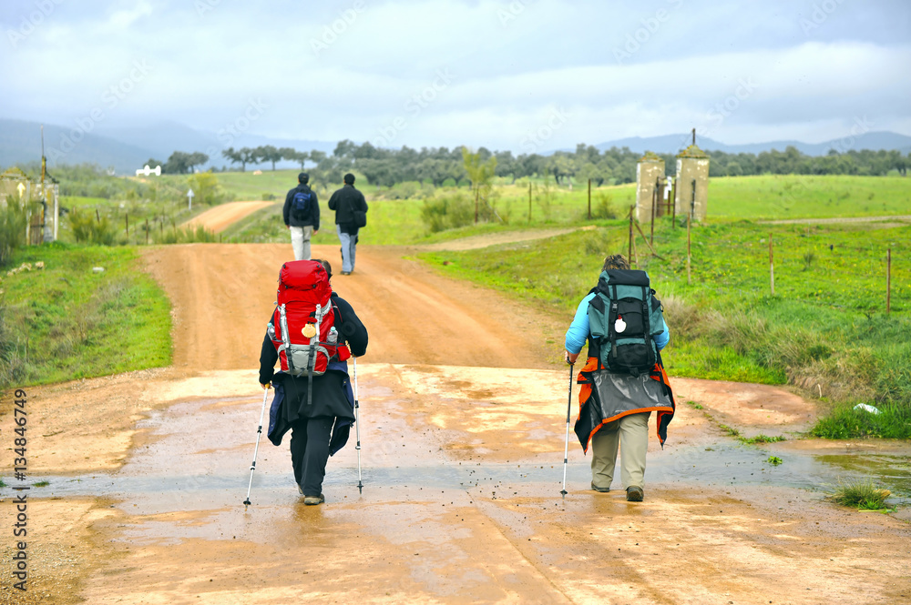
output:
[[[607,257],[598,286],[582,298],[566,334],[567,363],[575,363],[589,341],[577,378],[575,433],[583,451],[591,446],[591,489],[609,491],[619,446],[620,480],[630,502],[645,497],[651,412],[663,447],[675,409],[660,356],[670,332],[654,294],[645,271],[630,270],[620,255]]]

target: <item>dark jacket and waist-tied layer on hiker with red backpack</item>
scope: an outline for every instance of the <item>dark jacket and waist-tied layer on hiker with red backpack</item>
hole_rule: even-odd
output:
[[[342,342],[351,348],[352,355],[362,356],[367,350],[367,328],[354,314],[351,305],[333,292],[333,307],[337,311],[335,326]],[[270,323],[272,318],[270,318]],[[345,361],[331,361],[326,373],[313,377],[312,403],[307,404],[307,378],[294,378],[284,372],[275,372],[278,352],[266,334],[260,351],[260,383],[272,382],[275,397],[269,409],[267,437],[275,445],[281,444],[284,434],[292,428],[297,418],[334,417],[333,439],[330,452],[342,449],[348,438],[348,429],[354,419],[354,398]]]

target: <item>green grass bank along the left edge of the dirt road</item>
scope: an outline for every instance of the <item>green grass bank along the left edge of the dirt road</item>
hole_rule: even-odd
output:
[[[170,363],[169,302],[135,248],[26,247],[13,264],[38,261],[0,283],[0,389]]]

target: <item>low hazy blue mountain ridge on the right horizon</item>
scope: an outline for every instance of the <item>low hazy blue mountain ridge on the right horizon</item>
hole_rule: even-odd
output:
[[[664,136],[632,136],[620,138],[616,141],[599,143],[599,150],[604,151],[610,147],[630,147],[635,153],[653,151],[659,154],[676,154],[692,142],[691,134],[664,135]],[[911,136],[899,135],[894,132],[868,132],[858,136],[836,138],[824,143],[802,143],[801,141],[770,141],[768,143],[748,143],[745,145],[725,145],[708,137],[696,135],[696,145],[704,151],[723,151],[729,154],[759,154],[763,151],[777,149],[784,151],[788,146],[796,147],[807,156],[824,156],[830,149],[848,151],[849,149],[897,149],[903,154],[911,152]]]

